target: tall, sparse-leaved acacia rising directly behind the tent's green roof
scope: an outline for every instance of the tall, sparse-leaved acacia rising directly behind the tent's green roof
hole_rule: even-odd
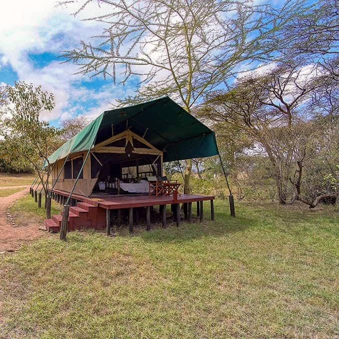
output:
[[[139,79],[135,97],[120,104],[171,95],[185,110],[240,70],[243,63],[266,61],[279,49],[273,39],[304,8],[287,0],[281,8],[248,0],[82,0],[105,6],[106,13],[88,18],[104,24],[93,41],[64,53],[79,73],[112,76],[126,83]],[[186,161],[184,190],[188,193],[191,161]]]

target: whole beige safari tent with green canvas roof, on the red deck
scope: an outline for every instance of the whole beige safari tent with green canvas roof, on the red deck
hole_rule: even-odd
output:
[[[73,192],[88,197],[142,191],[136,184],[163,176],[164,162],[217,154],[214,132],[163,97],[105,111],[44,165],[52,166],[53,189],[71,192],[76,183]]]

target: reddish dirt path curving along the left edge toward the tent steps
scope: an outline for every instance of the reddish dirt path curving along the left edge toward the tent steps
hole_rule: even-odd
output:
[[[25,240],[35,239],[43,234],[42,231],[39,231],[36,224],[15,227],[7,218],[8,206],[27,194],[28,187],[11,195],[0,197],[0,252],[15,250]]]

